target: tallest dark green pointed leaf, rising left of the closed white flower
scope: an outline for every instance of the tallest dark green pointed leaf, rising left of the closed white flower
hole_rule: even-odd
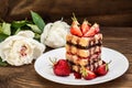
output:
[[[32,15],[32,19],[33,19],[33,22],[38,26],[38,29],[44,30],[44,26],[45,26],[45,23],[43,21],[43,19],[36,13],[36,12],[33,12],[31,11],[31,15]]]

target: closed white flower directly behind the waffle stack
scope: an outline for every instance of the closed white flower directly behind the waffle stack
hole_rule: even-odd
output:
[[[50,47],[62,47],[66,44],[66,34],[69,32],[69,25],[63,21],[56,21],[45,25],[41,35],[41,42]]]

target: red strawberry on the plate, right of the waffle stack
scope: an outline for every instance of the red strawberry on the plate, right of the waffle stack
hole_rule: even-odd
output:
[[[96,70],[95,73],[98,75],[98,76],[103,76],[108,73],[109,70],[109,67],[108,67],[108,64],[109,63],[105,63],[102,65],[100,65]]]

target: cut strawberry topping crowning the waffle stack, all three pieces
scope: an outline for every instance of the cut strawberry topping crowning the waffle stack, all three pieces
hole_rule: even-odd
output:
[[[73,23],[70,26],[70,33],[73,35],[89,37],[89,36],[94,36],[100,31],[99,24],[97,23],[95,23],[91,26],[91,24],[87,20],[84,20],[82,24],[79,25],[79,22],[77,21],[75,14],[74,14],[74,18],[72,19],[73,19]]]

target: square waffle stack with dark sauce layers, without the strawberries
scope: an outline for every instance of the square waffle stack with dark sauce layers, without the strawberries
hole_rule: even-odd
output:
[[[101,64],[101,33],[91,37],[68,34],[66,42],[66,58],[73,70],[78,72],[80,66],[95,70]]]

